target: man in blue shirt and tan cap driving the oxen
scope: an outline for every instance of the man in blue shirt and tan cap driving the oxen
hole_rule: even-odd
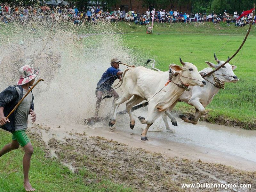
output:
[[[113,96],[114,100],[119,97],[117,92],[111,86],[115,82],[116,79],[121,80],[121,78],[122,78],[123,71],[121,71],[119,69],[119,64],[121,62],[122,61],[117,58],[111,59],[111,61],[110,61],[111,67],[109,67],[107,69],[107,71],[105,71],[103,73],[103,75],[100,78],[100,81],[97,84],[97,88],[95,91],[95,94],[97,97],[95,117],[98,116],[99,109],[100,109],[100,102],[102,101],[103,94],[106,94],[110,97]]]

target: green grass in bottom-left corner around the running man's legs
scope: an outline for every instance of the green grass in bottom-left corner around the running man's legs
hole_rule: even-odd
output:
[[[0,130],[0,148],[11,142],[11,133]],[[29,178],[31,185],[38,192],[98,192],[119,191],[129,192],[131,188],[124,188],[110,180],[100,178],[94,172],[86,168],[72,173],[68,167],[63,166],[56,158],[50,158],[45,153],[44,143],[39,143],[35,134],[30,134],[34,154],[31,158]],[[2,156],[0,164],[0,191],[1,192],[23,192],[22,158],[24,152],[21,148],[13,150]],[[98,182],[90,182],[97,179]]]

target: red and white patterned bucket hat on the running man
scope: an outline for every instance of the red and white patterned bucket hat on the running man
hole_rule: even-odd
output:
[[[20,68],[20,80],[17,82],[17,85],[24,85],[33,79],[36,78],[36,76],[39,73],[38,68],[32,68],[29,65],[25,65]]]

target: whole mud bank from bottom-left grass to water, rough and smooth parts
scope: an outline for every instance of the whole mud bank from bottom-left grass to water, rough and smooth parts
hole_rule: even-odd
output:
[[[138,191],[236,191],[181,188],[183,183],[252,185],[251,189],[239,188],[238,191],[255,191],[256,188],[255,170],[243,171],[253,170],[253,163],[220,152],[205,153],[202,149],[186,148],[177,143],[143,142],[137,135],[125,136],[116,129],[56,124],[32,125],[29,129],[38,133],[52,155],[74,172],[83,172],[88,183],[108,178]]]

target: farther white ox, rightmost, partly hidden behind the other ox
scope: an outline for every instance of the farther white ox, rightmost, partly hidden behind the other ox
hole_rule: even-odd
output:
[[[225,62],[218,60],[215,54],[214,58],[218,63],[217,65],[205,61],[205,63],[207,63],[211,68],[218,68]],[[199,73],[202,73],[204,75],[212,71],[211,68],[204,68],[203,70],[199,71]],[[184,92],[180,96],[180,98],[174,103],[174,105],[179,101],[183,101],[185,103],[188,103],[188,105],[194,106],[196,108],[196,113],[195,117],[187,118],[184,115],[180,115],[179,117],[187,123],[197,124],[200,117],[205,112],[205,107],[211,103],[213,97],[220,91],[220,89],[222,87],[224,88],[225,83],[236,83],[239,80],[233,72],[233,70],[235,69],[235,65],[230,65],[229,63],[226,63],[222,68],[214,72],[214,75],[204,77],[204,79],[206,80],[206,85],[204,87],[195,86],[191,88],[190,92]],[[172,110],[174,105],[166,110],[165,115],[171,118],[172,124],[174,126],[177,126],[177,121],[170,114],[170,111]],[[163,115],[164,124],[166,126],[166,130],[170,130],[170,126],[167,122],[167,117],[165,115]]]

